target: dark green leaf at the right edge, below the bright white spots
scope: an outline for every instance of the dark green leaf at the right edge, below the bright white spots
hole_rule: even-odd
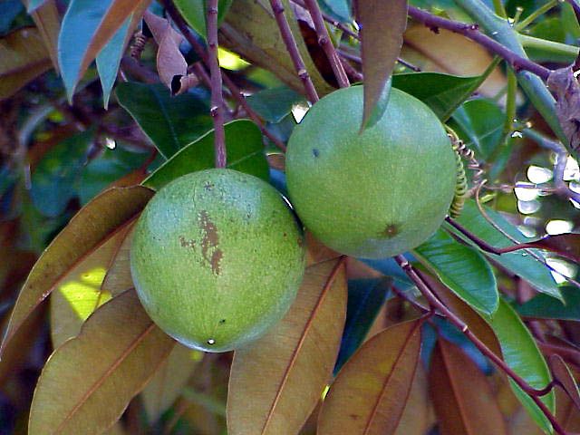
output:
[[[535,319],[563,319],[580,321],[580,293],[573,286],[560,288],[564,301],[548,295],[536,295],[517,306],[517,313]]]

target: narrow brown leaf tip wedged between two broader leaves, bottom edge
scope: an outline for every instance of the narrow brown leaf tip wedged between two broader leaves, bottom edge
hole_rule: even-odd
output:
[[[427,373],[419,363],[409,399],[402,411],[401,420],[394,435],[424,435],[434,423],[427,387]]]

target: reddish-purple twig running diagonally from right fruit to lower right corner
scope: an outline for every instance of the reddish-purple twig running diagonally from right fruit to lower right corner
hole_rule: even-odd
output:
[[[550,410],[548,410],[546,404],[540,399],[541,396],[546,395],[548,392],[552,390],[553,383],[552,382],[548,383],[548,385],[546,385],[546,387],[541,390],[536,390],[534,387],[530,386],[524,379],[522,379],[516,372],[514,372],[507,365],[506,362],[504,362],[501,358],[499,358],[498,355],[493,353],[488,348],[488,346],[486,346],[485,343],[479,340],[478,336],[472,333],[471,330],[469,330],[469,326],[465,324],[465,322],[463,322],[459,318],[459,316],[451,312],[445,304],[440,302],[437,296],[434,295],[431,289],[429,288],[429,285],[427,285],[421,279],[420,275],[417,274],[413,266],[411,266],[411,264],[407,261],[407,259],[404,256],[395,256],[395,261],[399,266],[401,266],[403,271],[411,278],[411,281],[413,281],[413,283],[417,285],[417,288],[419,289],[420,293],[425,297],[425,299],[427,299],[429,304],[440,310],[441,313],[445,314],[449,322],[451,322],[457,328],[459,328],[459,330],[465,334],[465,336],[469,339],[469,341],[478,348],[479,352],[483,353],[485,356],[488,357],[489,360],[494,362],[494,364],[496,364],[502,372],[505,372],[507,376],[509,376],[514,382],[517,383],[517,386],[519,386],[523,391],[525,391],[530,396],[532,401],[536,403],[537,407],[544,413],[544,415],[546,415],[546,418],[550,421],[554,430],[556,430],[557,433],[561,435],[566,435],[565,430],[562,428],[562,426],[560,426],[560,424],[556,420],[556,417],[552,414]]]

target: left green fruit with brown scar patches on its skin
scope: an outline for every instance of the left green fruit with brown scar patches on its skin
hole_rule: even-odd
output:
[[[208,169],[150,200],[131,242],[131,275],[151,319],[189,347],[226,352],[285,314],[304,275],[302,229],[261,179]]]

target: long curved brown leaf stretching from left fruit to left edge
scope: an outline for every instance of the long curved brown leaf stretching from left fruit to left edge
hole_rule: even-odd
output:
[[[135,218],[152,196],[153,191],[142,186],[109,189],[71,219],[28,275],[14,305],[0,354],[24,320],[51,294],[63,276]]]

